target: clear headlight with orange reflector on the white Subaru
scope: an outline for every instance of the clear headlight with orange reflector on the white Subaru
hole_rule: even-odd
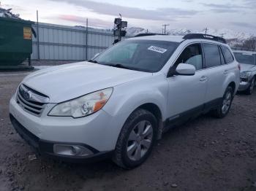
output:
[[[50,116],[84,117],[99,111],[107,103],[113,88],[99,90],[94,93],[83,95],[79,98],[57,104],[49,112]]]

